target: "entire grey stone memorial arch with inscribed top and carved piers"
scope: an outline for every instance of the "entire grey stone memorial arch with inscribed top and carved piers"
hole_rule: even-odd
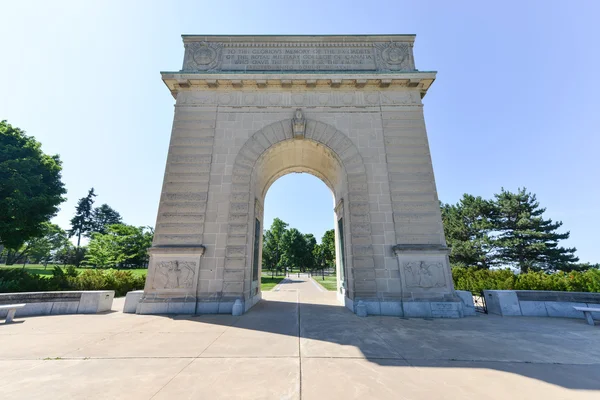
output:
[[[414,36],[184,36],[141,313],[260,299],[270,185],[310,173],[334,197],[338,297],[368,314],[462,316]],[[308,205],[307,205],[308,206]]]

